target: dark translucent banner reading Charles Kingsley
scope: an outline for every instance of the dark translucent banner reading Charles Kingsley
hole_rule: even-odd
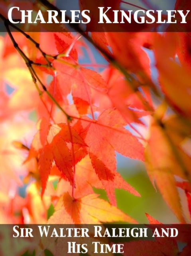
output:
[[[189,0],[2,0],[0,32],[191,32]]]

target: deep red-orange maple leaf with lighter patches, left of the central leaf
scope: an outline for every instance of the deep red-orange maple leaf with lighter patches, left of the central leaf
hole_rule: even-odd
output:
[[[39,131],[35,134],[27,160],[38,159],[42,184],[41,195],[45,191],[53,160],[60,172],[73,184],[72,167],[75,163],[73,163],[69,145],[66,143],[87,146],[74,128],[66,124],[49,126],[45,118],[39,122]]]

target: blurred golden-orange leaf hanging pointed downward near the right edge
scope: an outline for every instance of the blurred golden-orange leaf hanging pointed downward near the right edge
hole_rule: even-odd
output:
[[[165,124],[164,124],[165,126]],[[145,149],[145,162],[150,180],[154,180],[164,200],[171,207],[177,218],[185,222],[174,175],[185,178],[182,166],[174,154],[175,145],[170,143],[166,131],[153,120],[150,138]],[[179,152],[178,152],[179,154]]]

